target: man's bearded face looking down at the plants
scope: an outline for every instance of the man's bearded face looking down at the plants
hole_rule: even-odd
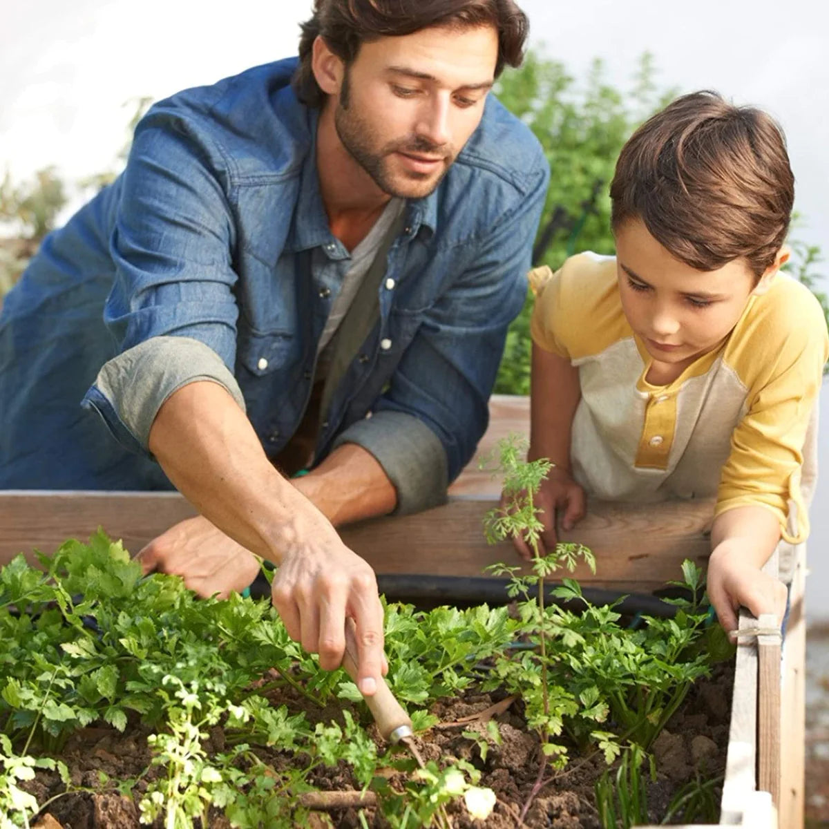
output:
[[[481,120],[498,40],[493,27],[422,29],[364,43],[332,96],[342,145],[390,196],[438,186]]]

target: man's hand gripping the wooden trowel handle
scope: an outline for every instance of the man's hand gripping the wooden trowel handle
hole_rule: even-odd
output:
[[[339,667],[345,652],[345,619],[356,624],[361,694],[376,691],[388,666],[383,655],[383,606],[374,571],[335,532],[283,556],[271,595],[288,636],[319,653],[322,668]]]

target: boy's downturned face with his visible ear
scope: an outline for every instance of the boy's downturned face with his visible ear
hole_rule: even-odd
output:
[[[684,371],[728,336],[749,297],[768,289],[781,258],[757,282],[743,259],[701,271],[676,259],[640,219],[616,231],[622,308],[653,361]]]

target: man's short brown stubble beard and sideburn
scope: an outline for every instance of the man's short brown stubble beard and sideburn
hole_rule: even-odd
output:
[[[337,129],[340,143],[347,149],[351,158],[371,176],[377,187],[397,198],[429,196],[429,193],[438,187],[454,160],[453,153],[447,146],[434,144],[427,138],[416,135],[391,141],[379,150],[376,149],[375,143],[371,140],[373,130],[350,105],[348,75],[342,85],[337,109],[334,111],[334,127]],[[395,176],[386,163],[393,153],[425,154],[431,158],[443,156],[444,168],[438,176],[434,176],[434,173],[411,170]]]

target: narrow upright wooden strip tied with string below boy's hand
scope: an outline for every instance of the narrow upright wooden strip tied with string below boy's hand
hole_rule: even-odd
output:
[[[780,628],[773,613],[763,613],[758,626],[758,787],[780,805]]]

